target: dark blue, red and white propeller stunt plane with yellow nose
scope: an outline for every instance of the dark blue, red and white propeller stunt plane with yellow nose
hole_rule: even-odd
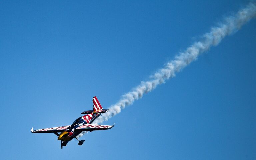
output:
[[[83,131],[94,131],[94,130],[105,130],[111,129],[115,124],[111,125],[97,125],[91,124],[96,118],[98,118],[102,113],[106,113],[109,109],[103,109],[99,100],[96,96],[92,98],[93,110],[87,110],[82,112],[83,115],[77,118],[72,125],[66,125],[61,127],[52,127],[44,129],[31,129],[32,133],[54,133],[58,136],[58,140],[61,142],[61,149],[66,146],[69,141],[73,138],[78,140],[78,145],[82,145],[85,140],[79,140],[77,136]],[[59,134],[60,133],[60,134]]]

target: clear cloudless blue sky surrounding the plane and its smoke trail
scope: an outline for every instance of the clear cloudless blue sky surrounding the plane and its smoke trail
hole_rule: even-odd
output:
[[[256,159],[256,19],[60,149],[104,108],[249,1],[0,1],[0,159]]]

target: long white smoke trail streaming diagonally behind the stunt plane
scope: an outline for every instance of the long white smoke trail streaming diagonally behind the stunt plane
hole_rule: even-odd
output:
[[[94,123],[98,124],[108,120],[120,113],[126,106],[131,105],[134,100],[142,98],[143,94],[155,89],[157,85],[175,77],[176,72],[180,72],[191,62],[195,61],[198,55],[209,50],[210,47],[218,45],[225,36],[236,32],[255,16],[256,3],[251,2],[245,8],[239,10],[236,15],[227,17],[223,23],[220,23],[217,27],[212,27],[210,32],[204,34],[201,41],[193,43],[184,52],[179,53],[174,60],[168,62],[162,69],[152,75],[150,80],[142,81],[132,91],[124,94],[116,104],[109,108],[107,113],[98,117]]]

